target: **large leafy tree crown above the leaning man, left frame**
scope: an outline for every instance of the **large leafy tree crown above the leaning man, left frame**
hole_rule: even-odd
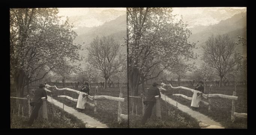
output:
[[[81,45],[72,43],[77,34],[57,13],[57,8],[10,9],[10,74],[17,91],[61,67],[64,58],[79,60]]]

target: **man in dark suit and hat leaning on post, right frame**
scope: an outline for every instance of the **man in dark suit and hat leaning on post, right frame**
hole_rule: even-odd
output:
[[[161,94],[159,89],[157,88],[157,85],[158,84],[156,82],[152,84],[152,87],[148,89],[148,93],[146,94],[146,97],[143,101],[143,103],[146,105],[146,108],[141,122],[142,125],[145,125],[146,121],[152,114],[152,109],[156,102],[155,96],[158,95],[161,98]]]

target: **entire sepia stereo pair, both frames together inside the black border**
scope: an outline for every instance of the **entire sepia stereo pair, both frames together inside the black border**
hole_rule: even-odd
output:
[[[11,129],[247,129],[247,7],[9,15]]]

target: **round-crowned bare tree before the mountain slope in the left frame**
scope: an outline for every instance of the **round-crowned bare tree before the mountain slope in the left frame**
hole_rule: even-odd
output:
[[[96,37],[87,48],[88,62],[100,71],[101,77],[105,78],[104,89],[107,86],[107,80],[113,73],[117,72],[124,61],[124,55],[119,54],[119,43],[114,40],[113,36],[101,39]]]

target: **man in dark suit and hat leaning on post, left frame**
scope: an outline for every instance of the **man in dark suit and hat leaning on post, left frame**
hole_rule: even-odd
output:
[[[31,126],[34,120],[38,117],[38,111],[43,104],[42,97],[47,99],[46,91],[44,90],[45,85],[39,84],[39,88],[35,90],[34,97],[30,101],[30,106],[33,107],[32,113],[29,118],[28,125]]]

